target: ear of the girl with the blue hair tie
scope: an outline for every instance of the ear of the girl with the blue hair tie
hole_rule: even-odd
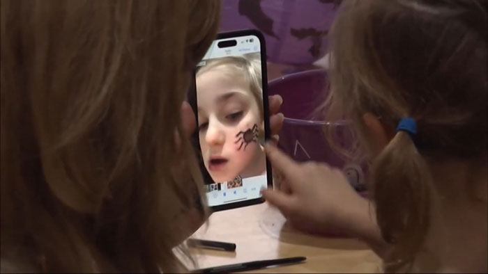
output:
[[[375,155],[378,155],[390,143],[394,134],[391,134],[372,113],[365,113],[363,122],[367,128],[368,143],[372,145],[371,150]]]

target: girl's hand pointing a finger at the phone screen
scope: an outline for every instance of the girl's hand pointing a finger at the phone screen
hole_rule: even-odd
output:
[[[341,170],[324,163],[296,163],[270,145],[266,145],[266,154],[286,191],[265,190],[263,197],[293,227],[314,234],[350,236],[363,233],[357,229],[368,229],[365,222],[376,227],[369,216],[369,202],[354,191]]]

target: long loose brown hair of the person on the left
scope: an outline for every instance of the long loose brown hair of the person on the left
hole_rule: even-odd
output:
[[[1,1],[2,259],[183,270],[174,218],[203,183],[175,136],[219,13],[219,1]],[[171,176],[182,161],[190,178]]]

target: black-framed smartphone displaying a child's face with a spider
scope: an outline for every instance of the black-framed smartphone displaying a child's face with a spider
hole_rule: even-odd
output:
[[[266,44],[256,30],[220,33],[195,68],[188,101],[192,136],[212,211],[264,202],[273,186],[264,153],[269,138]]]

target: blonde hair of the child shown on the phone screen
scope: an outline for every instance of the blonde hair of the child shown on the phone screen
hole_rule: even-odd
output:
[[[259,107],[259,113],[261,114],[261,120],[264,119],[263,110],[263,83],[261,76],[261,55],[258,54],[245,54],[243,56],[229,56],[223,58],[215,58],[207,60],[204,67],[201,67],[197,76],[213,70],[215,67],[227,66],[233,72],[234,76],[245,76],[250,83],[250,90],[252,96],[257,102]]]

